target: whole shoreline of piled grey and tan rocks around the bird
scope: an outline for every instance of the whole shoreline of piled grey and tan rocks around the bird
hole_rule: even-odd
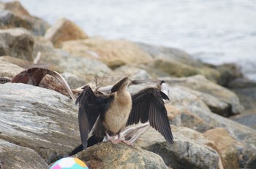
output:
[[[89,168],[256,168],[256,83],[236,65],[89,37],[71,20],[49,25],[17,1],[0,2],[0,20],[0,168],[49,168],[80,144],[78,107],[70,98],[42,85],[10,83],[32,66],[59,72],[72,89],[107,86],[121,76],[165,80],[175,143],[149,129],[134,147],[97,144],[75,155]]]

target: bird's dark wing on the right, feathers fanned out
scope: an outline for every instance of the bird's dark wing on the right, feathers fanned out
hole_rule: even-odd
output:
[[[154,87],[132,95],[132,111],[127,125],[145,123],[149,120],[149,124],[159,131],[170,144],[173,144],[173,134],[163,99],[169,100],[165,93]]]

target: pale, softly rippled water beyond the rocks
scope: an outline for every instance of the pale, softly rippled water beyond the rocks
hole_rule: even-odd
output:
[[[31,15],[60,17],[89,36],[186,50],[206,63],[238,63],[256,81],[256,1],[20,0]]]

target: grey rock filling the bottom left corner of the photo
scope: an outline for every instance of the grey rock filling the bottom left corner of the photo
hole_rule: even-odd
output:
[[[49,168],[34,150],[0,139],[0,168]]]

